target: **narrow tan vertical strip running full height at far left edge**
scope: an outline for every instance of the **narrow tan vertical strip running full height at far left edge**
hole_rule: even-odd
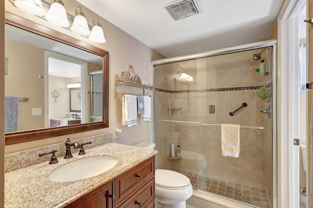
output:
[[[0,1],[0,45],[4,45],[4,1]],[[4,47],[0,47],[0,71],[4,71]],[[4,73],[0,73],[0,208],[4,207]]]

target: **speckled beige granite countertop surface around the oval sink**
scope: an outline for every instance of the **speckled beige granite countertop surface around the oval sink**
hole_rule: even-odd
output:
[[[49,165],[47,161],[5,173],[4,207],[65,207],[157,153],[156,150],[116,143],[85,149],[85,151],[85,155],[75,153],[70,159],[58,158],[57,164]],[[98,155],[116,157],[118,163],[112,169],[87,179],[72,182],[53,182],[48,179],[49,174],[60,166]]]

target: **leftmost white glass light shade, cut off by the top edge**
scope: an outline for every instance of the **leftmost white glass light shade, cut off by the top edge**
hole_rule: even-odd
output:
[[[32,15],[44,16],[46,13],[41,0],[15,0],[14,5]]]

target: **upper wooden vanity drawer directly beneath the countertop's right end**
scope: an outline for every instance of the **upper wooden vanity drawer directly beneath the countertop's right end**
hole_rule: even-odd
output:
[[[115,178],[116,207],[155,176],[155,156]]]

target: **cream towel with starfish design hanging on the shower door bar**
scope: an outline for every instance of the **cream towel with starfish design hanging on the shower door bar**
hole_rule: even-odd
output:
[[[239,157],[240,153],[240,126],[233,124],[221,125],[222,155]]]

